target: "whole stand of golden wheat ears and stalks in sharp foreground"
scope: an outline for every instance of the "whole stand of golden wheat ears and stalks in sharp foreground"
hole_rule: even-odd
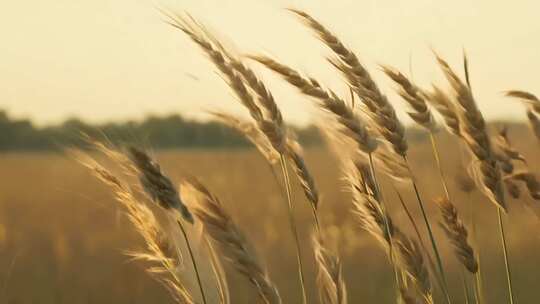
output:
[[[505,230],[506,223],[511,221],[506,215],[510,206],[505,191],[513,198],[521,198],[519,190],[520,184],[523,184],[528,196],[538,200],[540,183],[523,154],[512,146],[508,133],[504,129],[495,135],[489,132],[473,96],[466,58],[465,80],[462,80],[442,57],[435,54],[436,62],[448,81],[448,93],[440,85],[434,85],[431,91],[421,89],[398,70],[382,67],[383,72],[396,83],[398,94],[410,106],[409,116],[430,137],[433,168],[436,167],[443,189],[443,198],[434,204],[440,208],[438,219],[428,212],[429,206],[423,198],[425,195],[420,193],[423,183],[408,157],[410,143],[405,127],[371,72],[354,51],[317,19],[301,10],[289,11],[330,49],[332,55],[328,57],[329,63],[337,69],[359,103],[345,101],[314,77],[305,76],[272,58],[261,55],[245,58],[236,54],[189,15],[163,13],[167,22],[187,35],[214,64],[249,114],[249,120],[245,120],[228,113],[211,112],[216,119],[252,142],[274,174],[275,185],[272,186],[279,199],[286,203],[301,300],[282,296],[280,286],[272,279],[275,274],[259,257],[260,254],[246,235],[247,227],[236,222],[228,206],[210,192],[198,177],[184,172],[182,183],[177,186],[173,178],[166,175],[165,166],[161,166],[144,149],[111,147],[91,140],[92,147],[108,159],[108,165],[86,152],[71,151],[71,155],[113,191],[117,202],[143,237],[146,249],[130,254],[135,259],[150,263],[147,270],[168,288],[178,303],[230,303],[228,278],[233,274],[251,284],[257,298],[249,299],[249,303],[315,303],[317,300],[308,291],[308,286],[312,285],[320,303],[352,302],[348,298],[348,290],[361,283],[347,281],[347,272],[363,270],[348,269],[342,262],[339,248],[330,246],[332,226],[321,216],[324,215],[321,206],[330,203],[322,199],[324,195],[321,195],[316,175],[301,145],[288,128],[271,90],[250,67],[249,58],[279,74],[320,108],[321,121],[328,122],[320,127],[321,132],[327,135],[326,144],[334,152],[333,160],[340,168],[341,188],[345,188],[349,195],[346,210],[355,216],[358,226],[383,248],[392,273],[393,285],[387,290],[395,292],[393,301],[459,303],[461,298],[451,292],[455,288],[452,288],[453,282],[447,276],[446,260],[451,257],[443,255],[446,252],[441,250],[451,247],[464,271],[475,275],[472,287],[474,301],[486,303],[484,291],[490,290],[482,287],[480,261],[483,257],[479,254],[480,236],[475,233],[477,220],[472,211],[470,216],[457,211],[454,198],[458,195],[450,190],[450,180],[443,171],[447,160],[441,156],[436,140],[436,134],[439,136],[440,133],[436,133],[438,123],[434,111],[439,113],[449,133],[462,142],[468,151],[459,160],[468,173],[460,179],[461,190],[478,191],[496,207],[508,301],[517,301]],[[507,95],[525,101],[533,134],[538,136],[540,101],[522,91],[509,91]],[[295,179],[289,175],[291,169]],[[115,170],[120,173],[113,173]],[[281,175],[277,173],[278,170],[281,170]],[[260,181],[253,180],[252,183]],[[298,209],[302,205],[295,195],[296,183],[300,186],[306,206],[311,210],[309,221],[299,218]],[[409,206],[410,197],[401,196],[403,184],[412,186],[425,230],[419,228],[417,217],[412,215],[417,210]],[[388,195],[388,188],[395,189],[400,201],[399,208],[395,208],[396,198]],[[230,195],[227,198],[234,201]],[[265,198],[252,196],[251,199],[262,201]],[[259,209],[269,209],[263,204],[260,206]],[[394,208],[390,209],[390,206]],[[253,215],[256,218],[269,216],[262,210],[257,211]],[[396,220],[400,217],[407,217],[407,225],[414,227],[414,233],[409,234],[408,229],[403,227],[405,225]],[[433,220],[441,223],[446,239],[436,236],[431,225]],[[471,222],[472,227],[470,238],[465,224],[467,221]],[[282,223],[272,225],[281,226]],[[308,242],[301,235],[306,233],[305,227],[311,239]],[[282,235],[279,237],[285,239]],[[424,244],[425,238],[429,240],[430,250]],[[490,253],[483,251],[483,254]],[[186,270],[187,265],[191,271]],[[308,269],[314,271],[309,272]],[[463,274],[466,301],[469,301],[470,281]],[[218,296],[211,297],[210,294]]]

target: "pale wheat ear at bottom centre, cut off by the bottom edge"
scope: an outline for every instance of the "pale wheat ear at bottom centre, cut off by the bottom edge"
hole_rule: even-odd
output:
[[[347,290],[341,261],[323,246],[318,236],[313,238],[313,243],[321,304],[346,304]]]

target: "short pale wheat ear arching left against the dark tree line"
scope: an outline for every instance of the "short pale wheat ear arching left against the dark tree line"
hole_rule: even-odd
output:
[[[271,165],[279,162],[279,153],[272,147],[268,138],[257,128],[254,123],[245,121],[233,115],[223,112],[209,112],[212,116],[219,119],[226,126],[238,131],[244,135],[264,156]]]

